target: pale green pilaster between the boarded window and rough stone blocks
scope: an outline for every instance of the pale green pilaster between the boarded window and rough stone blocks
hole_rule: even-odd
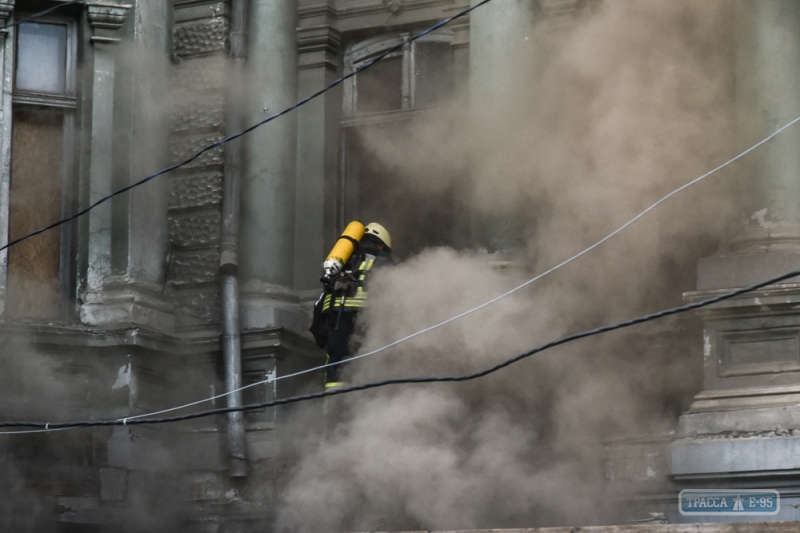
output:
[[[152,89],[165,83],[166,72],[159,72],[152,64],[153,57],[149,57],[145,74],[135,53],[126,54],[117,64],[116,48],[123,38],[126,47],[144,47],[143,54],[165,55],[165,50],[154,49],[159,38],[163,48],[166,36],[159,34],[159,28],[163,33],[165,24],[163,20],[159,24],[158,15],[149,7],[139,6],[137,20],[132,22],[142,27],[126,32],[123,27],[127,27],[130,5],[87,6],[94,67],[89,171],[92,202],[142,179],[165,162],[161,148],[165,143],[159,142],[157,133],[161,131],[160,114],[148,112],[154,100],[147,93],[161,93]],[[166,186],[152,185],[116,197],[89,214],[87,283],[80,309],[84,324],[138,324],[161,330],[174,327],[172,307],[163,297]]]

